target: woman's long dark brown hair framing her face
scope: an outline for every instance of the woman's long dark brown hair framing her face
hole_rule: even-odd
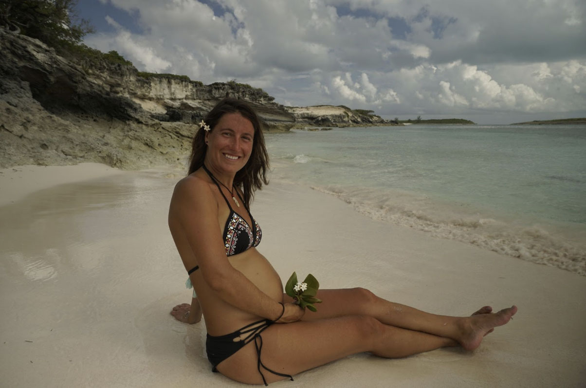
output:
[[[205,116],[203,121],[213,131],[223,115],[227,113],[239,113],[248,119],[254,127],[253,150],[250,159],[234,177],[234,186],[240,187],[244,194],[244,205],[250,209],[250,202],[254,197],[254,191],[260,190],[264,184],[268,184],[268,153],[264,145],[263,124],[250,105],[236,98],[224,98]],[[207,146],[205,144],[206,133],[199,128],[193,136],[192,151],[189,157],[188,174],[193,173],[203,166],[206,159]]]

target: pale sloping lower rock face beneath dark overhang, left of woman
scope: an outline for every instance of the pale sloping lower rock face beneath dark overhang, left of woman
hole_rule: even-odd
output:
[[[28,83],[2,84],[13,93],[0,95],[0,167],[81,162],[121,169],[185,166],[192,124],[53,114],[27,93]]]

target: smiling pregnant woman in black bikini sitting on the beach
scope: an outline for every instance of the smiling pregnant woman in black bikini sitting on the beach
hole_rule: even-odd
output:
[[[175,187],[169,208],[169,228],[194,298],[171,314],[195,323],[203,311],[214,372],[267,384],[352,353],[397,358],[443,346],[475,349],[516,313],[513,306],[491,314],[486,306],[471,317],[428,314],[358,288],[319,290],[323,303],[304,315],[255,248],[262,234],[250,202],[268,183],[257,115],[243,101],[227,98],[200,126],[189,175]]]

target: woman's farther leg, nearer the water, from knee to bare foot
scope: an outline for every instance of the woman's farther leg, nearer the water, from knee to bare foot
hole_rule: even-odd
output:
[[[323,300],[323,303],[316,305],[318,309],[316,313],[308,311],[303,318],[305,321],[344,315],[367,315],[383,324],[454,339],[468,350],[477,348],[482,337],[493,328],[509,322],[517,312],[517,308],[513,306],[496,314],[473,314],[471,317],[436,315],[384,300],[362,288],[319,290],[318,298]],[[285,300],[292,299],[285,295]],[[485,306],[479,312],[488,309],[490,307]]]

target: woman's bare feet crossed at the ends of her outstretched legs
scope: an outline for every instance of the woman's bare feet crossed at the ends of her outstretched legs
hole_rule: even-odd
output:
[[[471,317],[466,318],[462,325],[462,338],[459,341],[462,348],[472,351],[480,345],[482,337],[491,332],[495,327],[505,325],[511,317],[517,313],[517,306],[505,308],[498,313],[482,313],[492,308],[489,306],[482,307]]]

